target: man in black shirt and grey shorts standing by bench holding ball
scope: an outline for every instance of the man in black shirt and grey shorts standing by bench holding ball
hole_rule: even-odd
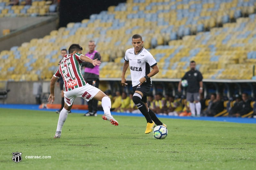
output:
[[[186,100],[190,102],[189,107],[191,114],[195,116],[196,111],[197,116],[200,116],[201,103],[199,102],[199,94],[203,92],[203,77],[201,72],[195,69],[195,65],[195,61],[190,62],[190,70],[181,78],[178,91],[181,92],[181,81],[186,79],[188,83]]]

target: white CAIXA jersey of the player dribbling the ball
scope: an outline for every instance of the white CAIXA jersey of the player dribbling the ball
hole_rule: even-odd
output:
[[[140,78],[149,74],[150,67],[157,64],[153,55],[143,47],[137,55],[135,55],[134,48],[126,50],[124,60],[129,62],[133,87],[140,84]],[[151,84],[151,78],[145,83]]]

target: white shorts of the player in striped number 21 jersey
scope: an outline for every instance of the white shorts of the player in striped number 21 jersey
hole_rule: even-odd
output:
[[[73,90],[64,92],[64,101],[68,106],[71,106],[77,97],[81,97],[86,101],[91,100],[100,91],[100,89],[89,85],[75,88]]]

